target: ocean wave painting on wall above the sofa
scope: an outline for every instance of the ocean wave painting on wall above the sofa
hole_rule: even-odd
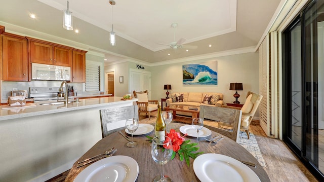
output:
[[[217,85],[217,61],[182,65],[183,85]]]

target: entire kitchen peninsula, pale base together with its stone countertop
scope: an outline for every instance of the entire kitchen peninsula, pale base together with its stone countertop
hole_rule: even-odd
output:
[[[46,181],[70,169],[102,139],[99,111],[137,101],[121,98],[89,98],[58,105],[36,102],[35,107],[0,109],[0,181]],[[125,121],[115,121],[108,127],[124,126]]]

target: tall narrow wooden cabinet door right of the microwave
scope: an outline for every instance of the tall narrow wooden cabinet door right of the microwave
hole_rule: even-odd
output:
[[[74,83],[86,82],[86,53],[73,51],[72,80]]]

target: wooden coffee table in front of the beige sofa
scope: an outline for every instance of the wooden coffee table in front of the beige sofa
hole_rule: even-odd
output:
[[[197,108],[197,110],[192,110],[189,108]],[[186,106],[186,105],[169,105],[165,107],[166,111],[172,111],[173,112],[173,119],[174,121],[179,121],[182,123],[192,123],[193,118],[199,117],[199,107],[193,107],[193,106]],[[181,112],[186,112],[186,113],[191,113],[191,118],[190,117],[185,117],[185,116],[177,116],[177,111]]]

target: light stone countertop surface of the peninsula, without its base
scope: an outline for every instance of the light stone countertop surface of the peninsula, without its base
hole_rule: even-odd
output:
[[[76,97],[78,98],[78,97]],[[99,98],[87,98],[80,99],[79,102],[71,102],[68,104],[57,104],[57,105],[41,105],[45,102],[55,102],[55,101],[43,101],[43,102],[35,102],[35,107],[27,107],[27,108],[15,108],[12,110],[3,110],[0,109],[0,121],[30,117],[30,116],[38,116],[52,113],[61,113],[67,111],[80,110],[85,108],[99,107],[105,105],[113,105],[123,102],[129,101],[137,101],[137,98],[132,100],[121,100],[123,97],[99,97]]]

